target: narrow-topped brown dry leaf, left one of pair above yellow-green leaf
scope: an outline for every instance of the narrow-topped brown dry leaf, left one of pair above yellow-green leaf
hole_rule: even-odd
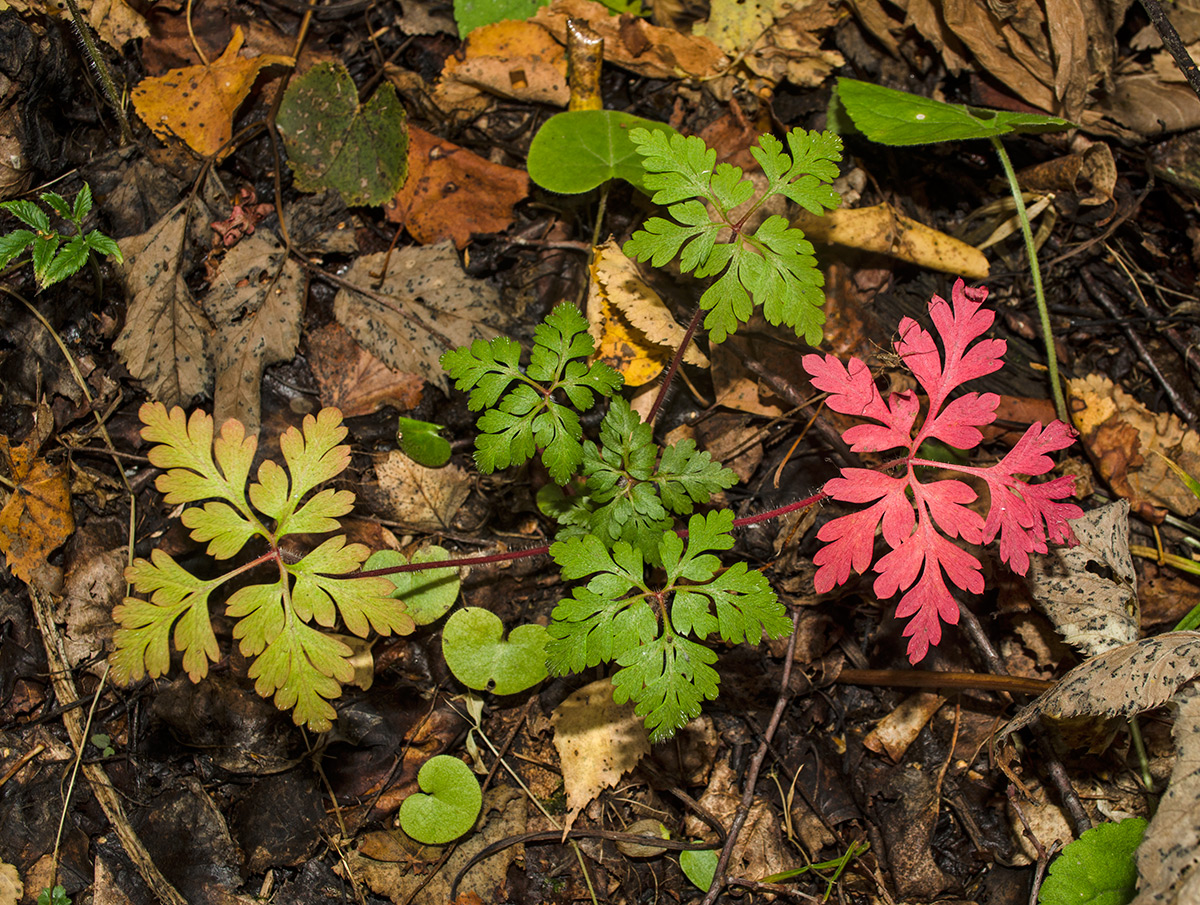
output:
[[[167,406],[186,404],[212,379],[212,328],[186,280],[197,251],[188,234],[202,234],[212,218],[203,202],[185,200],[142,235],[120,241],[130,306],[113,347],[150,396]]]

